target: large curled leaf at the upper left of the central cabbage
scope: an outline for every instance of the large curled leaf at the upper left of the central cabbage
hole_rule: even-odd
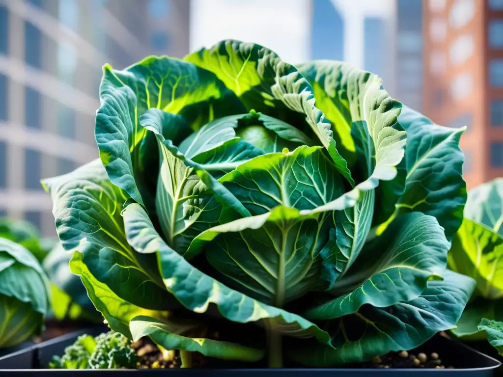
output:
[[[111,181],[150,210],[154,191],[150,177],[156,176],[157,156],[149,148],[152,140],[146,139],[140,116],[151,108],[178,114],[190,130],[214,118],[245,112],[213,73],[168,57],[148,57],[125,71],[105,65],[100,99],[96,140],[101,160]],[[179,123],[166,132],[175,144],[188,136]]]

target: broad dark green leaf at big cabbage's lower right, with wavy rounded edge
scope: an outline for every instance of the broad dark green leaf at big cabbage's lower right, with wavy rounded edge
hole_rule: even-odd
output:
[[[368,243],[353,264],[348,276],[357,288],[340,295],[340,285],[346,283],[343,278],[331,290],[336,299],[302,316],[328,320],[356,313],[365,304],[384,308],[415,299],[427,288],[428,280],[443,275],[448,250],[449,242],[435,218],[421,213],[401,216]]]

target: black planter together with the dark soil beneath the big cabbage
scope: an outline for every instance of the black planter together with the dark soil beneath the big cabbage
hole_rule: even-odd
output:
[[[37,373],[37,375],[53,375],[52,373],[61,373],[71,375],[70,373],[93,373],[93,376],[101,375],[104,373],[131,373],[135,370],[68,370],[68,369],[47,369],[49,362],[53,355],[62,355],[64,348],[72,344],[77,336],[81,334],[98,335],[107,331],[106,327],[93,327],[90,329],[75,331],[39,344],[29,345],[27,348],[18,350],[14,353],[0,357],[0,374],[7,375],[21,375],[25,373]],[[290,377],[300,375],[337,375],[339,376],[371,376],[371,375],[403,375],[403,373],[411,373],[414,376],[430,375],[431,373],[449,373],[449,375],[464,376],[464,377],[489,377],[495,375],[494,372],[501,365],[501,363],[481,352],[473,350],[462,343],[454,340],[447,339],[443,336],[435,336],[430,341],[426,342],[423,346],[414,350],[404,353],[390,353],[383,356],[380,360],[374,362],[360,363],[354,365],[346,365],[341,368],[331,369],[308,369],[308,368],[288,368],[288,369],[266,369],[259,364],[239,364],[222,362],[216,359],[195,357],[195,366],[192,369],[181,369],[180,360],[177,357],[174,361],[164,363],[156,369],[144,369],[151,365],[156,359],[159,358],[158,350],[154,347],[148,346],[148,341],[139,342],[135,348],[142,357],[140,358],[139,368],[141,373],[170,373],[172,376],[176,375],[199,375],[203,372],[208,376],[264,376],[264,375],[288,375]],[[427,355],[428,360],[420,364],[414,363],[413,356],[421,358],[420,353]],[[438,353],[439,357],[431,357],[432,353]],[[199,360],[199,361],[196,361]],[[440,361],[439,361],[440,360]],[[443,366],[443,368],[442,368]],[[169,369],[168,370],[166,370]],[[405,370],[406,369],[406,370]],[[139,371],[139,370],[136,370]],[[101,373],[101,374],[100,374]]]

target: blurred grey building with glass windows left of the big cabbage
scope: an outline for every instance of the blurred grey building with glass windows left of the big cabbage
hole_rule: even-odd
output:
[[[104,63],[189,51],[189,0],[0,0],[0,216],[54,233],[40,179],[96,157]]]

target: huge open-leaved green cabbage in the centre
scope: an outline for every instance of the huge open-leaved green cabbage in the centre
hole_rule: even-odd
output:
[[[100,158],[43,183],[115,331],[279,367],[455,327],[474,289],[446,270],[463,129],[402,109],[372,73],[232,40],[105,65],[100,100]]]

